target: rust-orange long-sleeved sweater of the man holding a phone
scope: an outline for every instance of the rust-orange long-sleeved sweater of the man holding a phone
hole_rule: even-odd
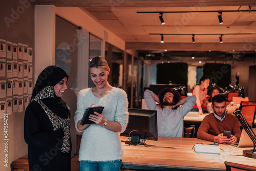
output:
[[[199,126],[197,138],[214,141],[214,137],[223,133],[224,131],[231,131],[233,136],[240,139],[241,130],[236,116],[226,114],[225,119],[220,121],[213,113],[205,116],[201,125]]]

